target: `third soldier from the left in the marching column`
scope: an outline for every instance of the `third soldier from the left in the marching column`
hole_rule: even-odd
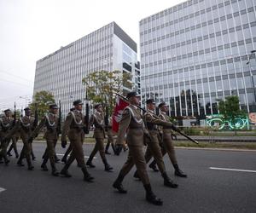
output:
[[[36,130],[32,133],[32,139],[35,138],[39,131],[45,126],[46,132],[44,138],[46,139],[47,147],[45,150],[43,164],[41,164],[41,168],[44,171],[47,171],[47,162],[49,159],[50,166],[51,166],[51,175],[52,176],[59,176],[59,172],[55,166],[55,144],[58,141],[58,106],[56,104],[49,105],[49,112],[41,122],[38,124]]]

